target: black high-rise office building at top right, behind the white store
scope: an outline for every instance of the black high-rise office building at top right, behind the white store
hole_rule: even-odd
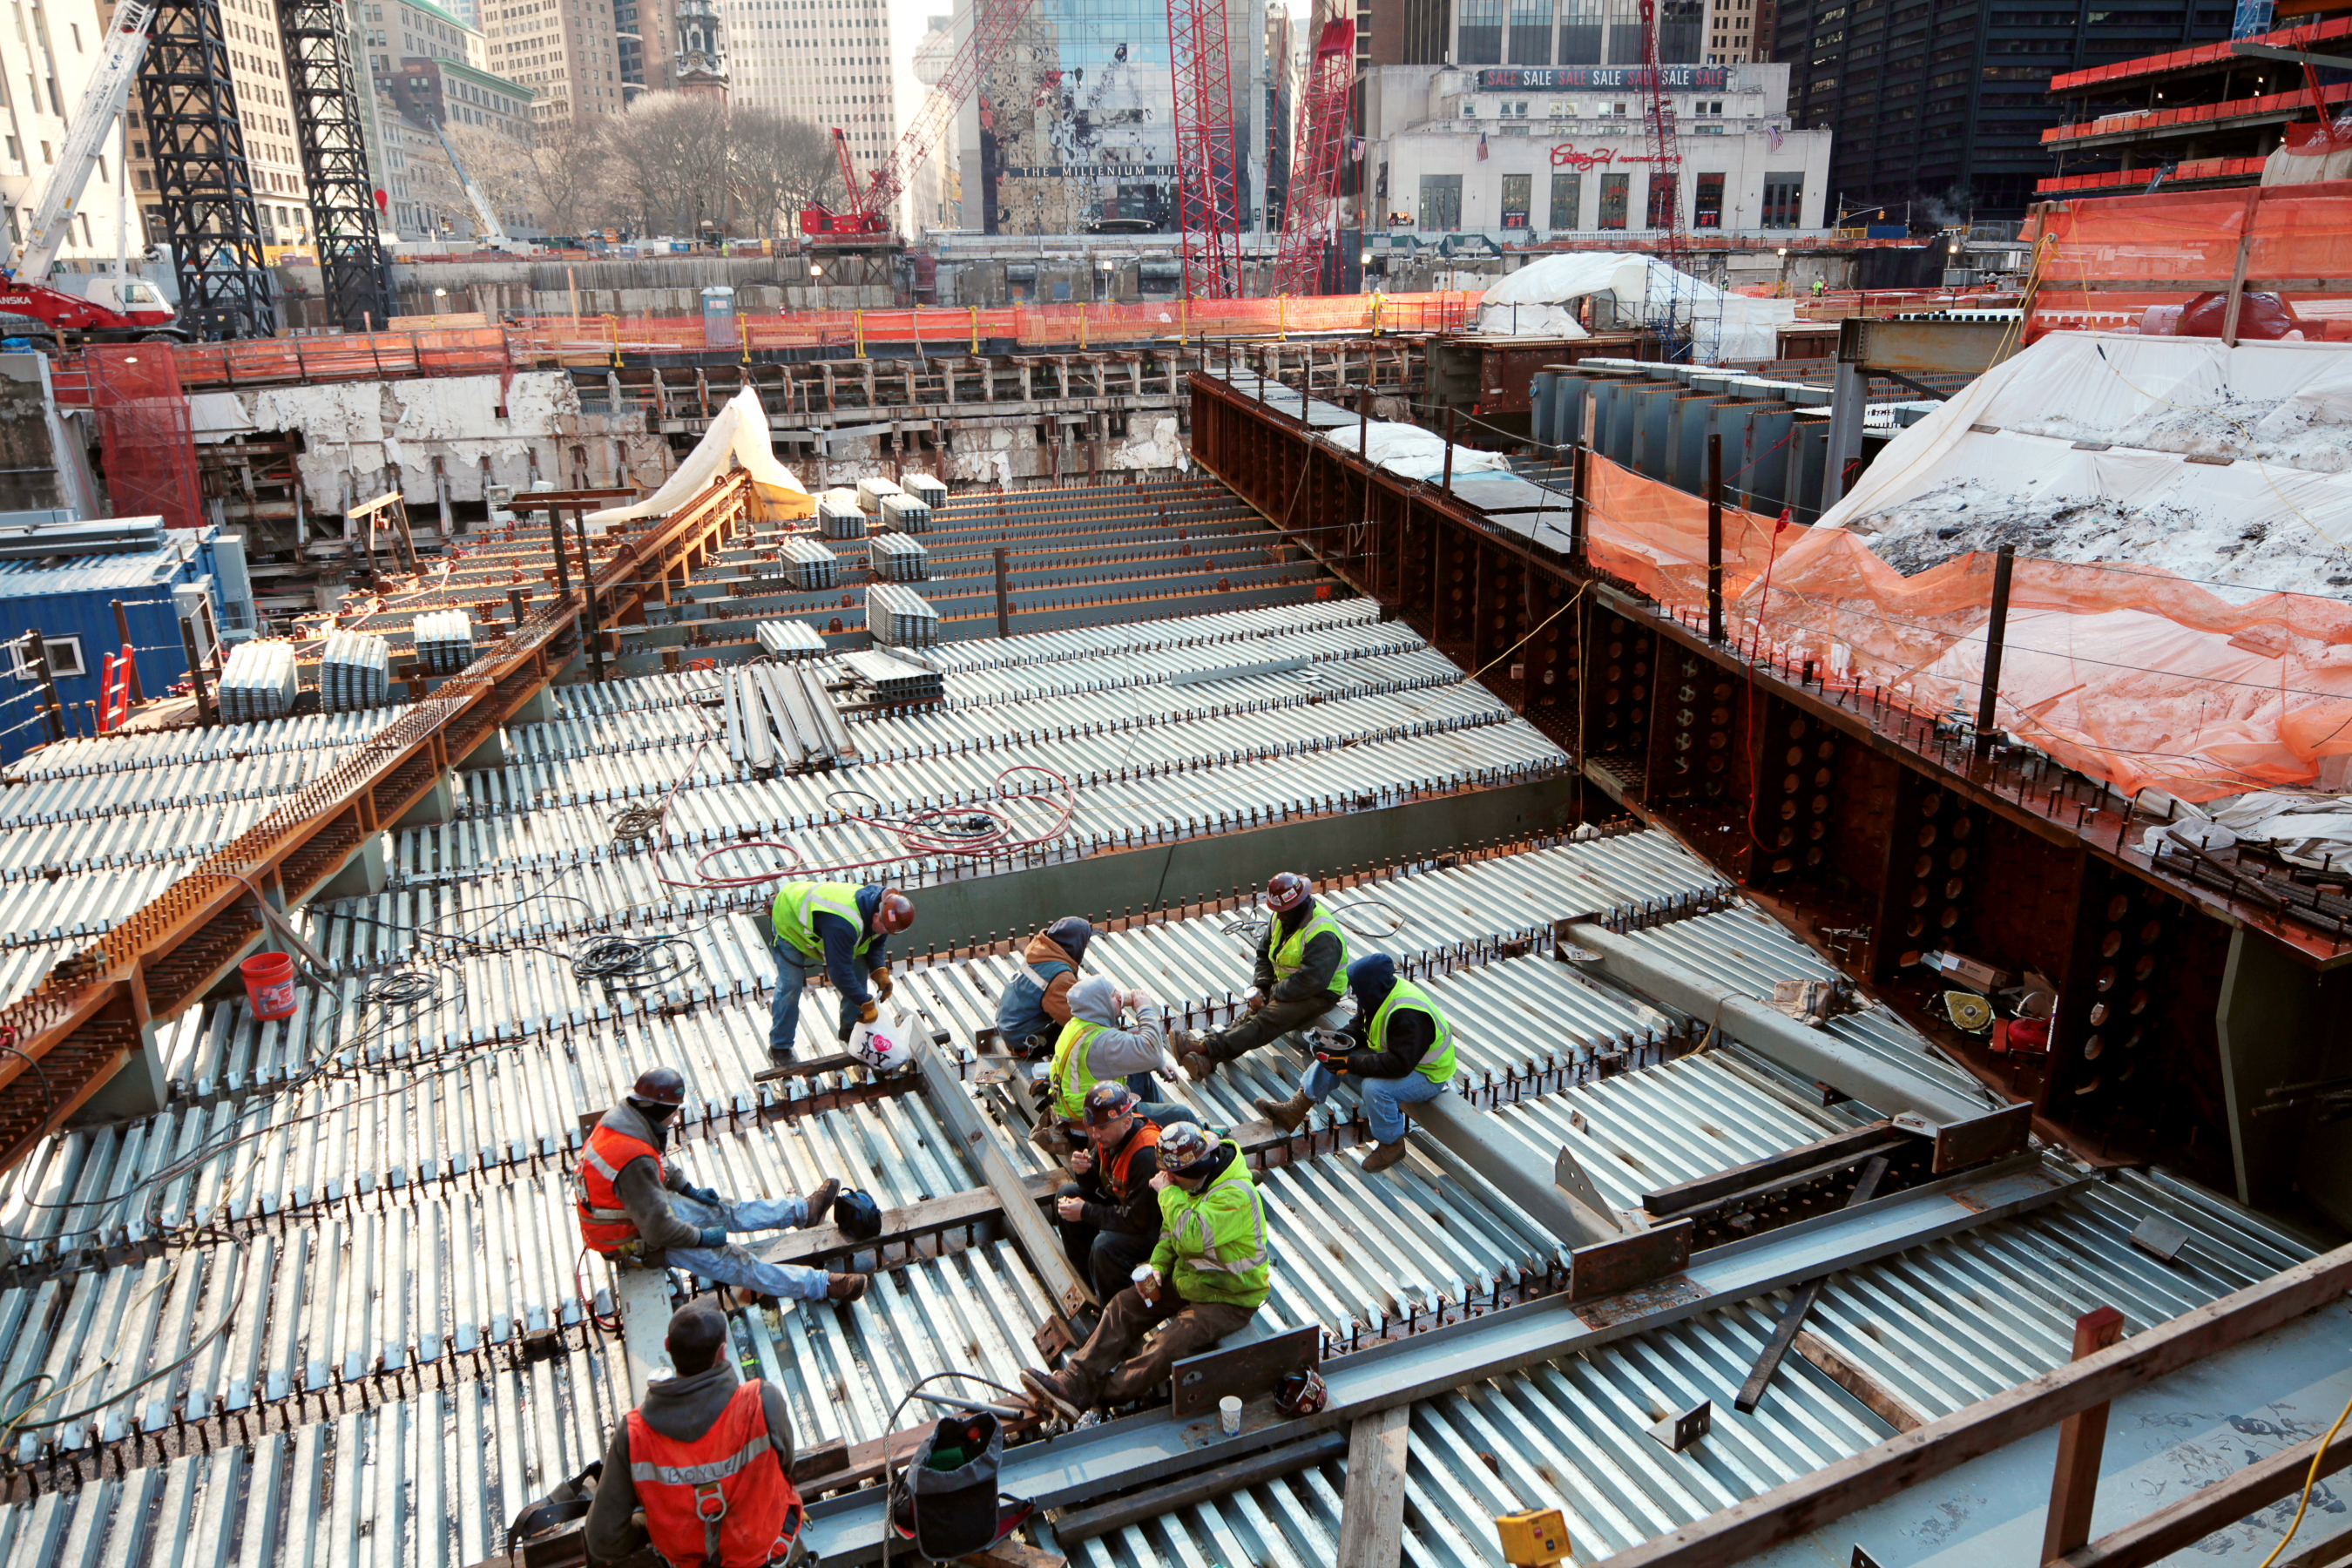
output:
[[[2230,35],[2223,0],[1992,9],[1950,0],[1780,0],[1773,59],[1797,125],[1835,132],[1832,219],[2016,219],[2056,174],[2051,75]]]

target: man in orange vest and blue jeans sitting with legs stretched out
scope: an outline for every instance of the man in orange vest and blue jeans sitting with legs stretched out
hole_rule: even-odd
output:
[[[588,1251],[623,1267],[677,1267],[769,1300],[837,1300],[866,1295],[866,1274],[828,1274],[790,1262],[767,1262],[729,1234],[823,1225],[842,1190],[826,1178],[797,1199],[727,1201],[713,1187],[687,1182],[663,1157],[670,1117],[687,1103],[687,1079],[675,1067],[652,1067],[581,1145],[581,1239]]]

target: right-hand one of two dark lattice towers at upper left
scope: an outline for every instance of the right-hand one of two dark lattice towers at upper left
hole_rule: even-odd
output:
[[[367,331],[393,315],[393,280],[376,237],[376,181],[367,172],[367,127],[346,28],[336,0],[278,0],[320,287],[336,324]]]

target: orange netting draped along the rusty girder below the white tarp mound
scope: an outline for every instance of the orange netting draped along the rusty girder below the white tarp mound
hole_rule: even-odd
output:
[[[1588,494],[1592,562],[1703,614],[1705,501],[1599,456]],[[1922,717],[1976,712],[1992,574],[1971,552],[1905,578],[1846,529],[1724,508],[1731,639]],[[2352,604],[2230,604],[2159,567],[2018,559],[1994,717],[2126,795],[2317,788],[2326,759],[2352,757]]]

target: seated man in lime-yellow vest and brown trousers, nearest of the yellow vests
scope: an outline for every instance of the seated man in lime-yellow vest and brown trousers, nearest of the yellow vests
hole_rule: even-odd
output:
[[[1094,1406],[1143,1399],[1176,1361],[1249,1324],[1272,1288],[1265,1199],[1242,1145],[1192,1121],[1171,1126],[1160,1133],[1152,1185],[1160,1241],[1150,1274],[1110,1298],[1084,1349],[1058,1373],[1021,1373],[1040,1413],[1075,1422]],[[1143,1345],[1152,1328],[1160,1333]]]

